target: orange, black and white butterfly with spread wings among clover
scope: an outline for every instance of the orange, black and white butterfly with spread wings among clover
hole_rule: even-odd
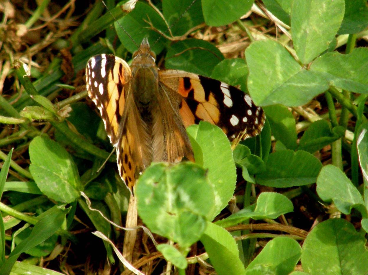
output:
[[[131,66],[111,54],[93,56],[86,65],[88,95],[130,190],[151,162],[194,161],[185,130],[191,124],[208,121],[233,140],[258,135],[265,123],[262,108],[240,89],[194,73],[160,70],[155,62],[145,38]]]

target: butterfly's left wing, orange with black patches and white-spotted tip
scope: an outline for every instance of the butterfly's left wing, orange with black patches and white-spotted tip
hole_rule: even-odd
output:
[[[99,54],[87,62],[87,92],[100,111],[110,142],[117,149],[119,173],[128,187],[134,186],[138,167],[142,166],[137,137],[144,137],[139,134],[144,126],[137,117],[131,79],[129,65],[111,54]]]

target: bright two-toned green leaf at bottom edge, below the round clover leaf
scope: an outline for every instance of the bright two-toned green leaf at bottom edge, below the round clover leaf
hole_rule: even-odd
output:
[[[244,274],[245,270],[239,259],[238,247],[233,236],[225,229],[208,222],[201,242],[217,274]]]

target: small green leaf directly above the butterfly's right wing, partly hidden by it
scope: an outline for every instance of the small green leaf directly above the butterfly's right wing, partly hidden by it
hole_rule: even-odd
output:
[[[247,91],[248,66],[244,59],[224,59],[212,71],[212,78]]]

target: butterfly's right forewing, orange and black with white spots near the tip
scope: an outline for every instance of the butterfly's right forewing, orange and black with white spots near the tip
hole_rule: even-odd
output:
[[[162,86],[182,96],[180,115],[185,127],[204,120],[222,128],[230,140],[258,135],[265,114],[250,96],[224,82],[178,70],[160,70]]]

